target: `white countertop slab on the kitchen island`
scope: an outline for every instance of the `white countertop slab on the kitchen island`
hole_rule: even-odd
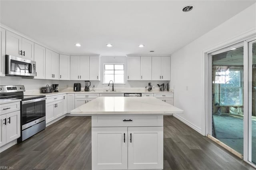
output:
[[[173,114],[183,110],[155,97],[97,97],[74,109],[71,114]]]

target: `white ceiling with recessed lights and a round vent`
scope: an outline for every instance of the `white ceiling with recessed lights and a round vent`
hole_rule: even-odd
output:
[[[0,23],[62,53],[170,55],[255,2],[1,0]]]

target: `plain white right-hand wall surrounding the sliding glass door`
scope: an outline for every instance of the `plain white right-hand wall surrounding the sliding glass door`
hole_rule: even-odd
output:
[[[201,134],[205,128],[202,117],[206,114],[202,113],[203,51],[254,30],[256,4],[171,55],[170,88],[175,91],[174,105],[184,110],[178,118]]]

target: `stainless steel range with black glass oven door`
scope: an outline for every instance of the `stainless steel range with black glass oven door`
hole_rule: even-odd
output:
[[[22,142],[46,127],[45,96],[24,95],[24,85],[1,85],[0,99],[21,99],[20,102],[20,138]]]

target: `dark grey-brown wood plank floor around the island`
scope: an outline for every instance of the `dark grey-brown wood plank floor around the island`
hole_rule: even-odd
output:
[[[91,118],[65,117],[0,154],[14,169],[91,170]],[[164,170],[247,170],[252,166],[172,116],[164,117]]]

